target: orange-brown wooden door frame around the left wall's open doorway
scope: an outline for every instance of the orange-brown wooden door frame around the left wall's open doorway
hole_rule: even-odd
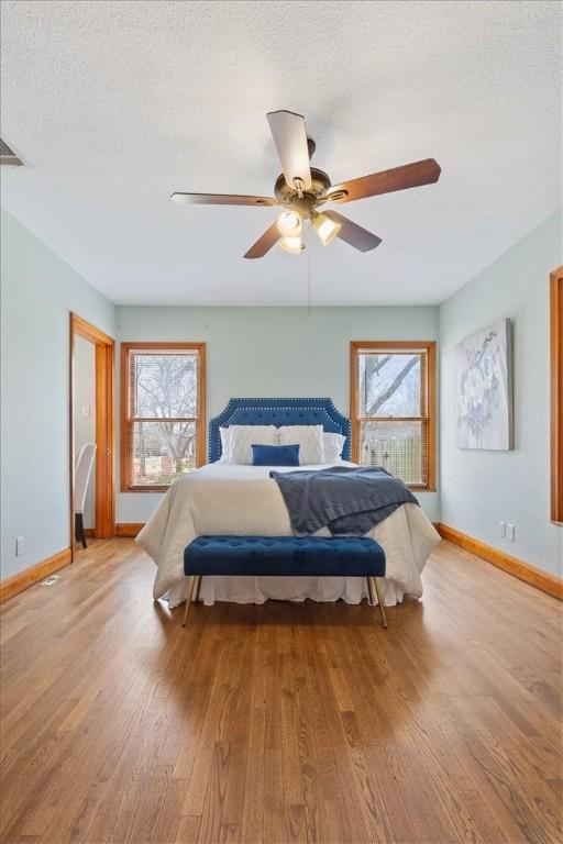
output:
[[[70,312],[70,390],[69,390],[69,473],[70,473],[70,552],[75,553],[75,340],[93,343],[96,351],[96,529],[97,538],[109,538],[115,531],[114,463],[114,359],[115,341],[96,325]]]

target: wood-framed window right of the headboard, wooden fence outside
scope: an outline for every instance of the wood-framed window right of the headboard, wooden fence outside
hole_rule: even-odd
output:
[[[352,458],[435,489],[435,343],[350,344]]]

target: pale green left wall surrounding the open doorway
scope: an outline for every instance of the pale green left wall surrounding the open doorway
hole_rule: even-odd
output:
[[[1,218],[3,579],[68,547],[68,314],[114,335],[115,309],[3,209]]]

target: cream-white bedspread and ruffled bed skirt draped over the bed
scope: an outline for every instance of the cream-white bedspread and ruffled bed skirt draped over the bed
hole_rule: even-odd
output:
[[[140,545],[156,563],[155,598],[167,593],[170,607],[184,601],[187,590],[184,549],[196,536],[206,533],[292,535],[284,499],[269,471],[267,466],[212,463],[187,475],[168,490],[137,536]],[[323,533],[329,535],[328,531],[320,531],[318,535]],[[420,573],[440,541],[421,508],[402,504],[367,536],[377,540],[386,554],[385,603],[394,606],[405,595],[420,598]],[[343,598],[347,603],[358,603],[366,593],[365,579],[360,577],[208,577],[203,578],[200,599],[206,604],[216,600],[263,603],[268,598],[294,601]]]

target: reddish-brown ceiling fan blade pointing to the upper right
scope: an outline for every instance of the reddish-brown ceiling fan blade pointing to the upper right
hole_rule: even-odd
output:
[[[433,158],[424,158],[423,162],[404,164],[391,170],[373,173],[371,176],[362,176],[360,179],[343,181],[342,185],[333,185],[329,191],[328,200],[332,202],[353,202],[355,199],[376,197],[379,193],[391,193],[394,190],[418,188],[421,185],[431,185],[440,177],[440,165]],[[343,197],[339,197],[340,192]],[[334,199],[331,199],[334,195]]]

